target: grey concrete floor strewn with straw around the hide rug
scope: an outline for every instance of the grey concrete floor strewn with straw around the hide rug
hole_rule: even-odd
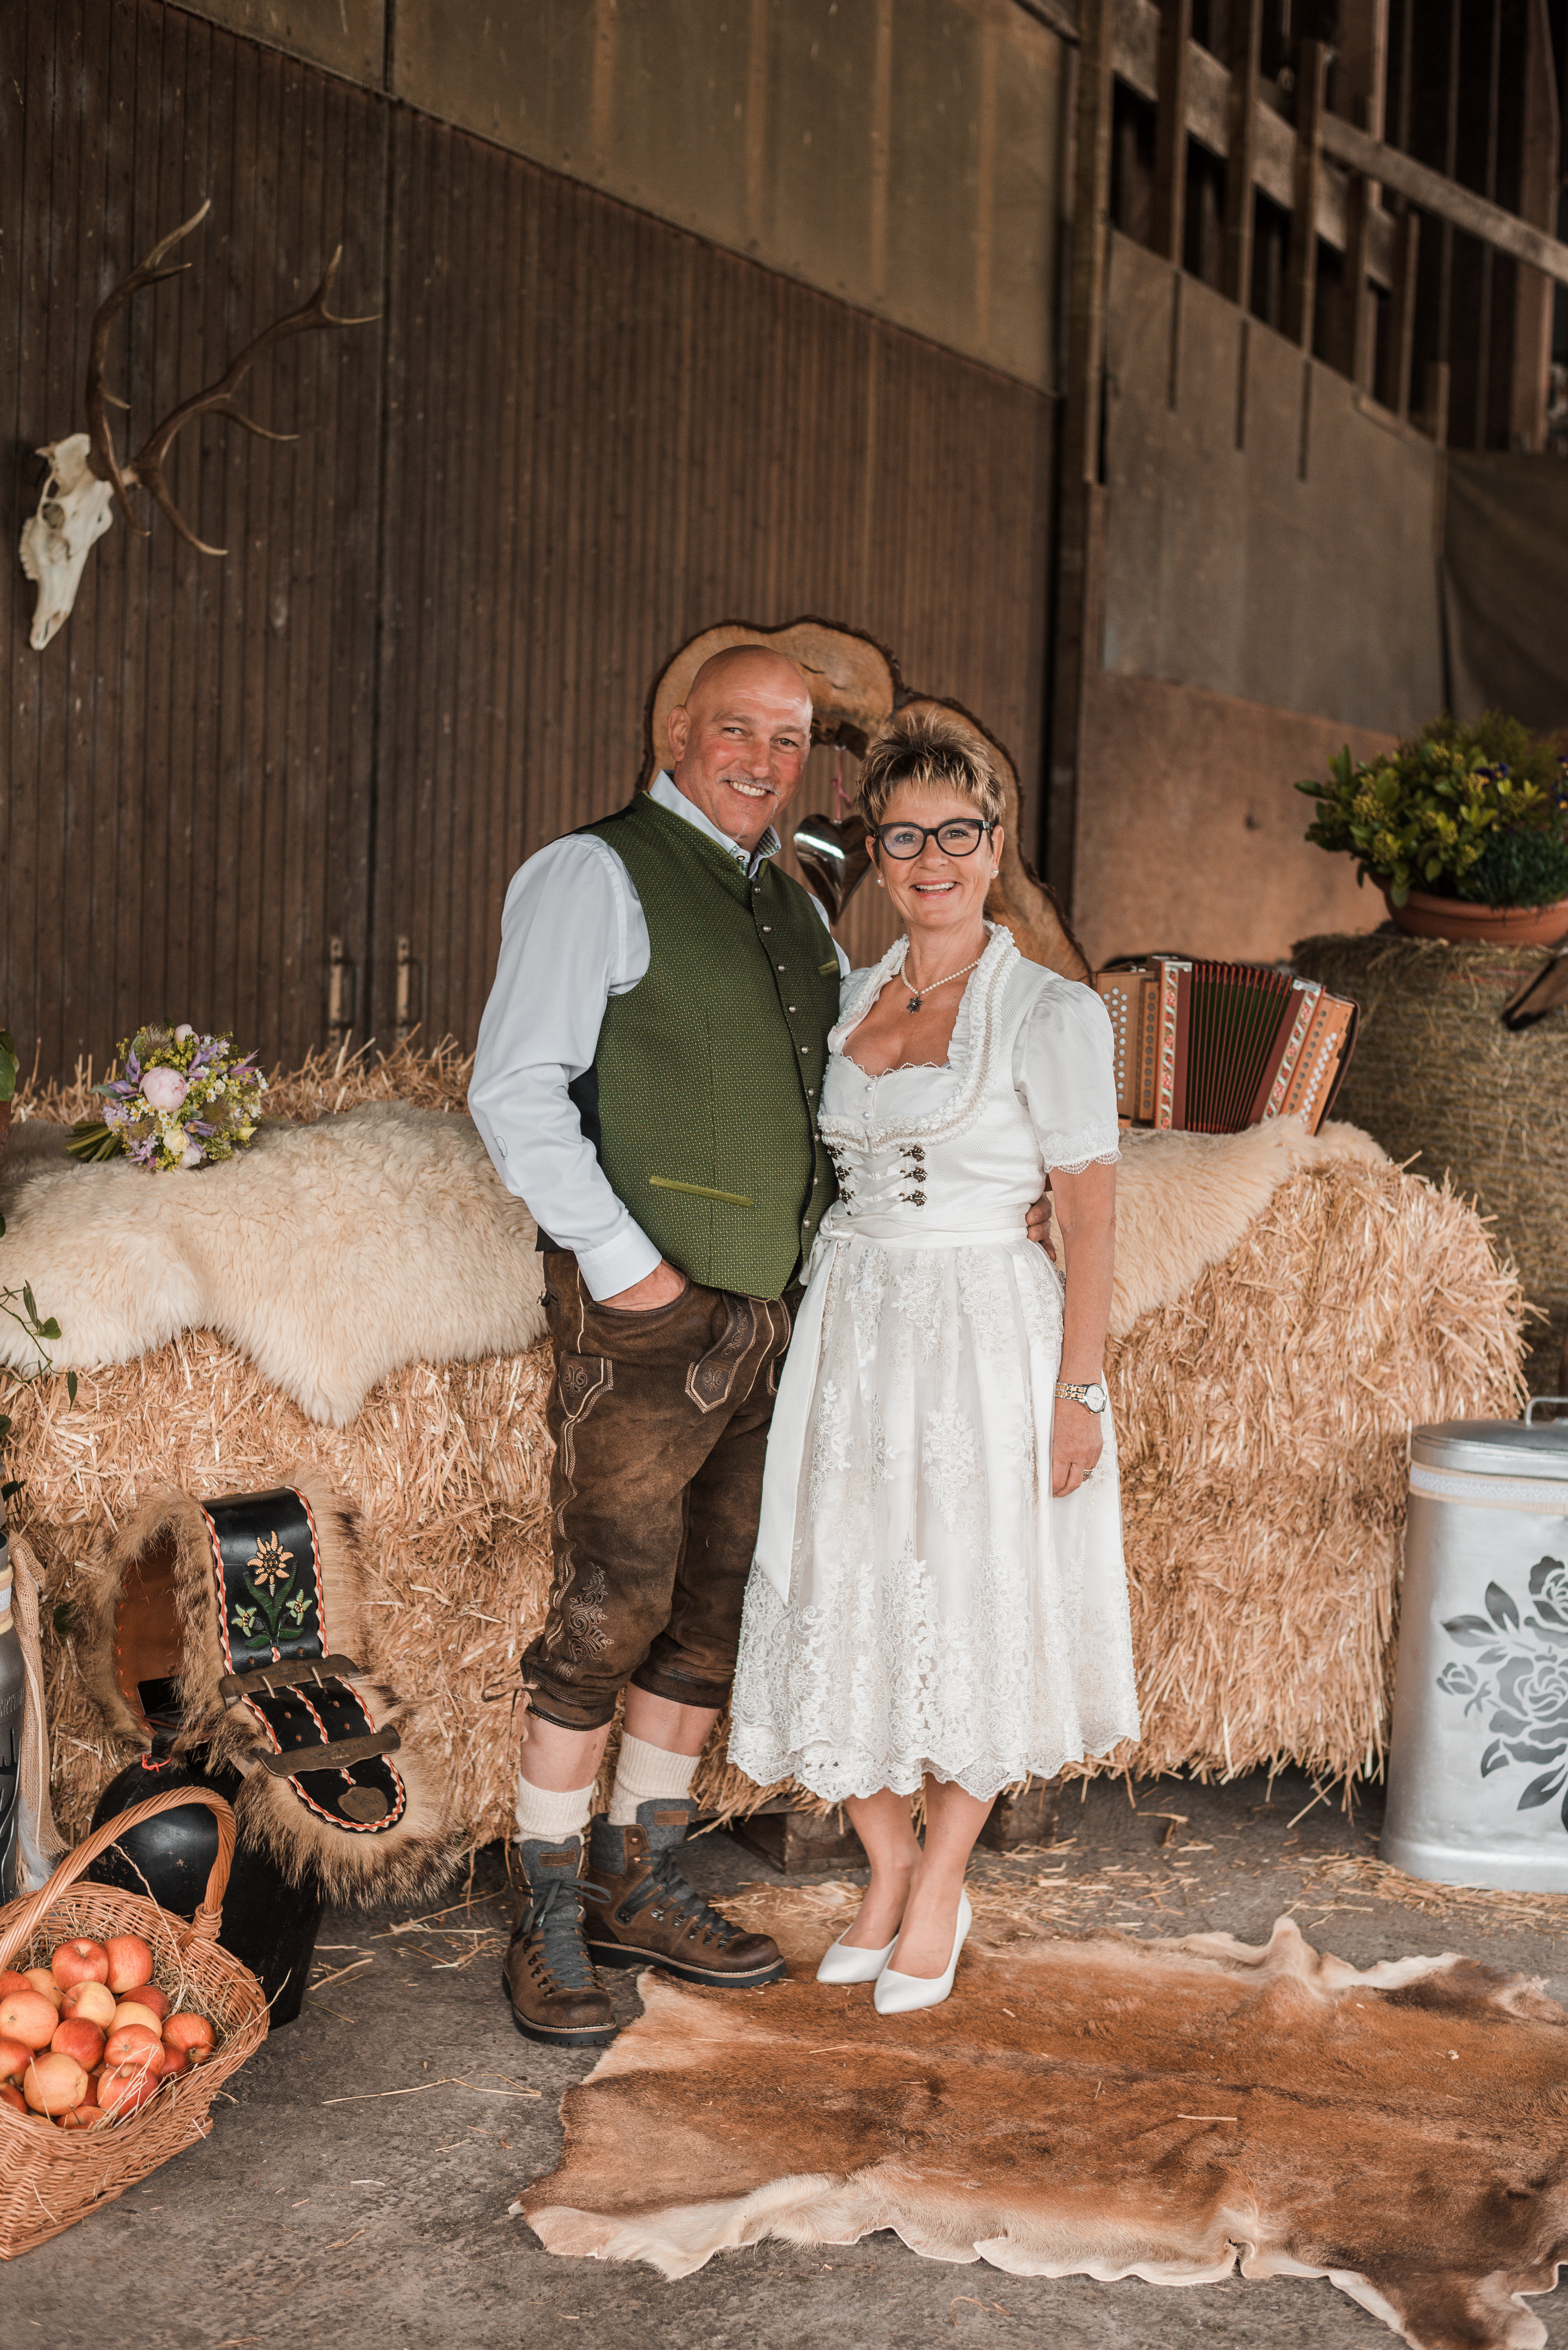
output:
[[[1227,1929],[1248,1941],[1298,1904],[1309,1941],[1361,1965],[1462,1948],[1547,1976],[1568,2000],[1568,1950],[1533,1920],[1432,1920],[1333,1861],[1375,1852],[1375,1810],[1354,1824],[1295,1774],[1229,1788],[1098,1784],[1063,1807],[1072,1845],[999,1859],[990,1882],[1039,1887],[1079,1927]],[[1293,1814],[1312,1805],[1291,1826]],[[1185,1814],[1171,1821],[1168,1814]],[[1164,1842],[1161,1842],[1164,1838]],[[691,1868],[710,1894],[771,1875],[729,1835]],[[842,1871],[839,1871],[842,1873]],[[120,2202],[0,2275],[5,2350],[435,2350],[552,2343],[567,2350],[914,2350],[1048,2343],[1051,2350],[1380,2350],[1392,2336],[1328,2284],[1185,2291],[1006,2277],[922,2261],[891,2235],[849,2249],[764,2244],[679,2284],[644,2268],[555,2261],[508,2218],[520,2186],[559,2148],[559,2092],[592,2052],[517,2037],[498,1993],[510,1901],[487,1854],[473,1908],[390,1932],[395,1915],[331,1913],[301,2019],[261,2049],[219,2103],[212,2138]],[[461,1889],[458,1889],[461,1892]],[[1305,1894],[1305,1899],[1302,1899]],[[454,1896],[447,1896],[454,1899]],[[475,1953],[468,1965],[461,1960]],[[458,1965],[454,1965],[458,1960]],[[341,1972],[348,1969],[348,1972]],[[329,1981],[329,1976],[334,1976]],[[616,2000],[635,2012],[630,1976]],[[409,2096],[378,2092],[411,2089]],[[1568,2282],[1530,2308],[1568,2350]]]

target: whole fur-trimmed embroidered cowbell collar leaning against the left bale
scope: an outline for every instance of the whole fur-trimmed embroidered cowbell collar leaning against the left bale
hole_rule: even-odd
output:
[[[82,1626],[108,1727],[153,1744],[172,1690],[176,1751],[244,1774],[240,1833],[331,1901],[411,1901],[451,1873],[447,1772],[418,1706],[371,1683],[353,1506],[320,1471],[268,1492],[155,1495],[120,1530]]]

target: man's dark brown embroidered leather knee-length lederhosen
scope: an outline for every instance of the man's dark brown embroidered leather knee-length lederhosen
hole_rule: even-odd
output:
[[[628,1680],[677,1704],[722,1706],[762,1502],[769,1372],[788,1342],[788,1311],[698,1283],[651,1314],[614,1311],[592,1302],[564,1253],[545,1257],[545,1288],[555,1584],[524,1652],[534,1711],[567,1730],[597,1730]],[[719,1544],[698,1480],[729,1450],[743,1412],[759,1417],[755,1476],[748,1457],[733,1532]],[[705,1600],[682,1607],[682,1633],[672,1610],[693,1516],[705,1528],[693,1560]]]

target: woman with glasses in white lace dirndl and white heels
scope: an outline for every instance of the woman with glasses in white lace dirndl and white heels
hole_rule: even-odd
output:
[[[893,2014],[952,1988],[997,1793],[1138,1737],[1138,1699],[1100,1384],[1110,1020],[985,921],[1001,790],[978,738],[896,721],[860,811],[907,935],[844,982],[830,1036],[839,1201],[778,1389],[729,1753],[846,1805],[872,1871],[818,1976]],[[1025,1236],[1046,1175],[1060,1274]]]

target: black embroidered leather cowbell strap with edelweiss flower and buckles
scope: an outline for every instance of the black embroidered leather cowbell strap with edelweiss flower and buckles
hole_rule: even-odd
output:
[[[202,1504],[212,1544],[223,1697],[242,1701],[273,1744],[263,1770],[289,1779],[320,1819],[353,1835],[386,1835],[409,1807],[388,1755],[395,1730],[376,1730],[334,1657],[315,1518],[303,1492],[235,1492]]]

